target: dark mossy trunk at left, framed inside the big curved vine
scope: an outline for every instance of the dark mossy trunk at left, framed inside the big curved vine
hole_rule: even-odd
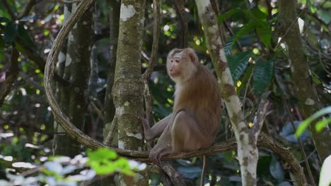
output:
[[[72,10],[76,4],[72,4]],[[88,75],[90,73],[90,55],[93,38],[93,8],[90,8],[71,30],[68,38],[64,78],[71,84],[61,93],[63,109],[77,128],[85,125]],[[59,130],[62,130],[61,128]],[[75,156],[80,153],[80,144],[69,135],[57,137],[57,154]],[[61,144],[61,145],[59,145]]]

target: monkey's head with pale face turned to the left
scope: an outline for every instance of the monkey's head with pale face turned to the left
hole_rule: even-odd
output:
[[[190,80],[197,72],[199,59],[191,48],[173,49],[167,57],[167,71],[174,82]]]

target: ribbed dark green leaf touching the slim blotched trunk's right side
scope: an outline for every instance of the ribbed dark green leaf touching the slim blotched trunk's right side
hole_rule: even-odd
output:
[[[252,52],[250,51],[241,52],[236,56],[226,56],[228,58],[228,67],[231,70],[233,82],[237,82],[240,75],[243,74],[251,56]]]

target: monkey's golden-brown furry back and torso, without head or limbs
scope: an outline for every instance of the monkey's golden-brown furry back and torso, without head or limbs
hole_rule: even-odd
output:
[[[202,134],[214,143],[221,124],[221,92],[216,78],[202,65],[190,80],[176,85],[173,111],[184,110],[198,123]]]

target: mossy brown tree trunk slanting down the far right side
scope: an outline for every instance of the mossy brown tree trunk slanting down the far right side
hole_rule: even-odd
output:
[[[279,21],[284,29],[284,41],[289,48],[291,72],[296,87],[296,95],[298,96],[303,116],[308,118],[320,109],[320,100],[312,85],[313,81],[310,78],[308,63],[303,53],[303,44],[296,15],[296,1],[279,0],[278,5]],[[324,128],[322,132],[317,132],[315,123],[310,123],[310,131],[320,160],[324,161],[331,154],[330,128]]]

